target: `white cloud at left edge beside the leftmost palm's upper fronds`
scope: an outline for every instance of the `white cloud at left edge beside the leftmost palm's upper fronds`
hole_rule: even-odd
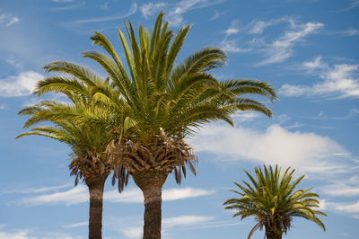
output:
[[[43,75],[34,71],[26,71],[16,76],[9,76],[4,80],[0,80],[0,97],[30,95],[35,89],[35,84],[43,78]]]

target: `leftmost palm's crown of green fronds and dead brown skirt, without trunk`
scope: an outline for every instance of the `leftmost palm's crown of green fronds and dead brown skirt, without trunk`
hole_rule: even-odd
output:
[[[93,94],[98,89],[108,89],[109,80],[101,80],[89,69],[69,62],[55,62],[48,66],[57,65],[51,71],[66,73],[68,76],[48,77],[37,84],[38,95],[49,91],[65,93],[71,101],[57,102],[43,100],[24,107],[19,111],[20,115],[30,115],[24,128],[31,128],[39,123],[50,123],[31,128],[31,131],[21,134],[19,137],[39,135],[51,137],[72,148],[72,161],[69,165],[71,175],[75,175],[75,185],[79,179],[90,181],[89,177],[100,175],[107,177],[111,166],[109,157],[105,154],[112,137],[109,135],[109,127],[106,124],[84,121],[94,116],[107,119],[104,116],[108,111],[100,107]],[[45,69],[48,69],[45,66]],[[75,77],[75,78],[74,78]],[[79,81],[78,79],[83,79]],[[49,86],[50,85],[50,86]],[[127,184],[128,175],[125,172],[123,182],[118,183],[118,190],[123,190]]]

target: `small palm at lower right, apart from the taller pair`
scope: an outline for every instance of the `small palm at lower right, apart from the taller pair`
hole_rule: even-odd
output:
[[[281,174],[281,168],[273,169],[264,165],[263,170],[255,168],[256,179],[250,173],[244,171],[250,178],[250,185],[247,181],[242,181],[244,185],[237,182],[234,184],[241,191],[232,190],[241,195],[239,199],[226,200],[223,205],[226,209],[234,209],[237,212],[233,217],[254,216],[258,223],[250,230],[251,235],[260,228],[266,228],[267,239],[280,239],[283,233],[292,226],[292,217],[303,217],[315,222],[325,231],[324,224],[317,215],[327,216],[325,213],[314,208],[319,207],[319,195],[310,192],[312,188],[306,190],[294,190],[295,186],[302,181],[305,175],[293,181],[294,170],[290,167]]]

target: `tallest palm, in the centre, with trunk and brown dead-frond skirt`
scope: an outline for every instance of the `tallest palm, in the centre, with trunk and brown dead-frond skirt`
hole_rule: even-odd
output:
[[[245,97],[262,95],[276,100],[275,90],[266,82],[226,80],[219,82],[209,70],[223,66],[222,49],[201,49],[175,66],[175,60],[190,26],[182,27],[173,39],[168,22],[162,24],[163,12],[154,24],[152,36],[139,25],[138,41],[131,22],[125,22],[127,39],[118,36],[127,61],[128,72],[109,40],[95,32],[91,37],[109,55],[87,51],[109,75],[111,87],[94,87],[92,97],[107,113],[72,114],[80,122],[107,125],[114,139],[107,147],[114,175],[123,181],[121,172],[130,173],[144,193],[144,239],[161,238],[162,185],[169,173],[178,183],[186,176],[186,164],[196,173],[196,157],[184,137],[211,120],[225,120],[231,125],[235,111],[259,111],[271,117],[267,106]],[[57,69],[57,63],[51,66]],[[51,68],[50,67],[50,68]],[[86,84],[78,78],[75,84]],[[78,91],[74,83],[43,81],[39,91]]]

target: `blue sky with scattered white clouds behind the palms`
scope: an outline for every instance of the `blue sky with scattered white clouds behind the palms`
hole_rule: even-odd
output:
[[[55,60],[73,61],[104,75],[81,58],[98,49],[89,37],[106,35],[120,50],[122,19],[149,29],[165,9],[174,31],[192,24],[179,60],[218,46],[228,64],[219,79],[252,78],[272,84],[274,117],[237,113],[235,128],[216,122],[188,138],[199,159],[197,176],[163,187],[164,239],[246,238],[255,222],[224,211],[233,181],[260,164],[293,166],[315,187],[327,232],[302,218],[285,238],[357,238],[359,234],[359,1],[4,0],[0,3],[0,238],[86,238],[87,189],[74,188],[70,149],[43,137],[14,138],[24,117],[16,113],[39,99],[31,94]],[[120,54],[123,57],[123,54]],[[50,94],[41,99],[65,100]],[[269,102],[267,102],[269,103]],[[131,181],[122,195],[107,182],[106,238],[140,238],[144,206]],[[263,238],[257,232],[252,238]]]

